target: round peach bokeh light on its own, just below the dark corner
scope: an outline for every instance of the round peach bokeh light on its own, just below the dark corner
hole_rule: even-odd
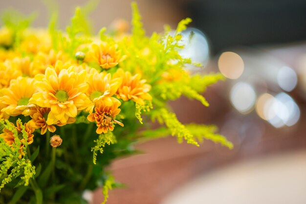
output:
[[[223,52],[218,60],[220,72],[229,79],[238,79],[244,69],[242,58],[235,52]]]

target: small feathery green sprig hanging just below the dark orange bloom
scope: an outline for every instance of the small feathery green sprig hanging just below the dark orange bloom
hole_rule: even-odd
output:
[[[103,148],[105,145],[110,145],[116,143],[116,137],[112,134],[112,132],[107,132],[100,134],[98,139],[94,140],[96,145],[91,148],[91,152],[93,152],[93,163],[96,164],[97,160],[97,152],[99,151],[101,154],[103,154]]]

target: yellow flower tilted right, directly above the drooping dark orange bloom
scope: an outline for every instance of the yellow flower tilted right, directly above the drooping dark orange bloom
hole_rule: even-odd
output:
[[[87,77],[89,88],[86,94],[91,100],[91,104],[88,106],[86,111],[92,113],[95,104],[103,98],[105,103],[110,106],[112,104],[112,100],[109,98],[109,96],[116,93],[121,82],[122,79],[120,78],[112,79],[110,73],[99,73],[94,68],[90,69]]]

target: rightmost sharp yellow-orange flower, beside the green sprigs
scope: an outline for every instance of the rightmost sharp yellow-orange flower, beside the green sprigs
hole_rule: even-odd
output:
[[[141,79],[140,74],[131,75],[129,71],[119,68],[114,73],[113,78],[122,78],[122,84],[117,91],[117,97],[123,101],[132,100],[140,105],[144,105],[144,100],[152,100],[148,93],[151,86],[146,84],[145,79]]]

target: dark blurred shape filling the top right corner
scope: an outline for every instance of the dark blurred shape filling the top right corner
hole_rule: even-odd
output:
[[[279,44],[306,39],[305,0],[178,2],[193,19],[193,26],[207,34],[214,53],[236,45]]]

